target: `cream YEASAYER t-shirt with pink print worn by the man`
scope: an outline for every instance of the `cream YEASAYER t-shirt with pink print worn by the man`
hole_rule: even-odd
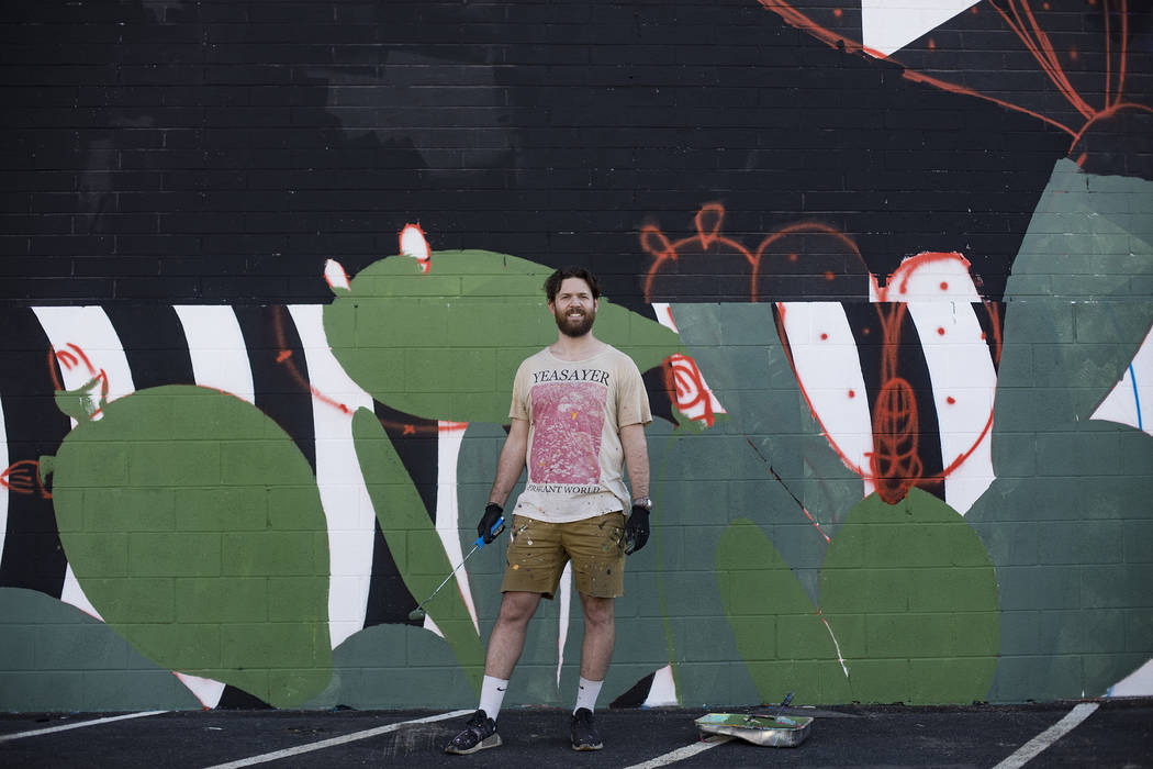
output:
[[[653,421],[631,357],[611,345],[582,361],[542,349],[517,369],[508,416],[528,421],[515,514],[563,523],[630,508],[620,428]]]

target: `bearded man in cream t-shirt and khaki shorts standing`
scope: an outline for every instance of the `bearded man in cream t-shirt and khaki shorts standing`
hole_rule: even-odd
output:
[[[512,427],[477,526],[485,542],[528,466],[513,508],[500,612],[489,636],[480,709],[445,748],[474,753],[500,745],[497,714],[525,647],[541,596],[552,598],[572,561],[585,613],[580,688],[573,708],[573,749],[598,751],[593,710],[615,639],[612,601],[624,595],[625,555],[649,535],[649,466],[645,425],[653,421],[632,359],[593,336],[600,307],[596,277],[565,267],[544,282],[557,341],[526,359],[513,382]],[[628,468],[632,496],[623,469]],[[624,510],[631,508],[627,522]]]

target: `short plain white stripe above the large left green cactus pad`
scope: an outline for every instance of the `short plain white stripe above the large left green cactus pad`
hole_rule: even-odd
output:
[[[184,330],[196,384],[255,404],[253,367],[233,309],[218,304],[174,304],[172,309]]]

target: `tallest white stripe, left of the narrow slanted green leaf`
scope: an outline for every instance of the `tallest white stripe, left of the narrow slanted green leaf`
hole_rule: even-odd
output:
[[[329,635],[336,648],[364,627],[376,514],[353,444],[352,415],[372,409],[372,397],[353,382],[324,336],[323,307],[291,304],[312,385],[316,485],[329,526]]]

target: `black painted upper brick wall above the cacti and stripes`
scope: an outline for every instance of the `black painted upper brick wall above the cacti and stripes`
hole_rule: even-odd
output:
[[[1148,13],[1130,16],[1141,100]],[[1004,71],[1019,42],[939,36],[966,82],[1048,88]],[[1070,150],[755,0],[9,1],[0,44],[16,304],[325,302],[325,258],[354,273],[419,221],[434,249],[588,263],[636,308],[640,228],[691,234],[709,202],[744,242],[820,221],[879,276],[960,251],[997,300]],[[782,286],[760,299],[805,299]]]

